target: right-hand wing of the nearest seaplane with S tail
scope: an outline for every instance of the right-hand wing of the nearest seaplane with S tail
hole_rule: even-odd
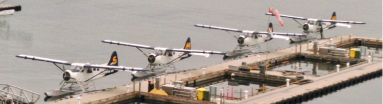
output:
[[[122,70],[122,71],[149,71],[149,69],[146,69],[146,68],[108,66],[108,65],[96,65],[96,64],[85,64],[84,67],[109,68],[109,69],[113,68],[114,70]]]

